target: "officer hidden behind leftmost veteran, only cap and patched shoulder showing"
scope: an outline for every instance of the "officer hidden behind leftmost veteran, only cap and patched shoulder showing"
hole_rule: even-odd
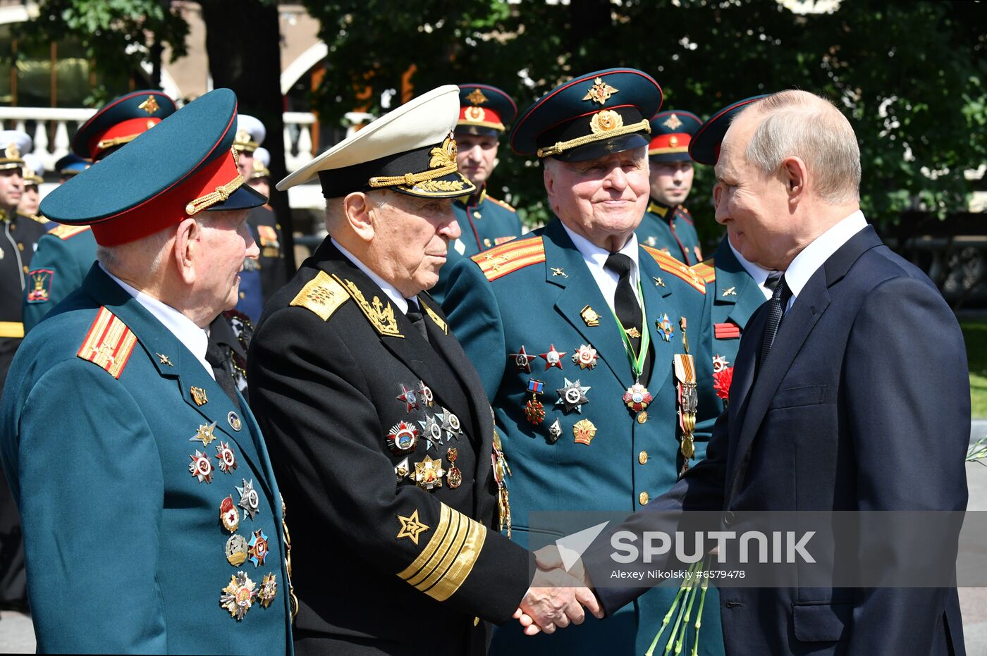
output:
[[[99,162],[177,109],[175,101],[160,91],[125,94],[79,127],[72,138],[72,150],[80,162]],[[95,261],[96,239],[89,226],[59,225],[38,241],[23,299],[25,332],[82,285]]]

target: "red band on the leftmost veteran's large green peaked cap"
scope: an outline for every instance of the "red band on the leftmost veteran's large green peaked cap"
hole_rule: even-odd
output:
[[[168,226],[181,223],[191,214],[186,211],[192,201],[223,187],[240,176],[233,152],[217,157],[197,171],[189,180],[166,189],[119,214],[93,223],[93,237],[100,246],[118,246],[153,235]],[[218,200],[218,198],[217,198]],[[202,208],[204,209],[204,207]]]

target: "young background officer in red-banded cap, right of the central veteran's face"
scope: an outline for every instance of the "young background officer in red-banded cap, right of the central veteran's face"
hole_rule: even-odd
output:
[[[703,259],[703,250],[692,215],[682,203],[692,189],[689,140],[702,123],[696,114],[681,110],[661,111],[651,118],[651,142],[647,145],[651,199],[635,231],[645,246],[690,265]]]

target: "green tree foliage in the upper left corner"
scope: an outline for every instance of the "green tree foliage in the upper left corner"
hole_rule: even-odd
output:
[[[189,24],[167,0],[39,0],[38,18],[22,24],[18,37],[28,45],[79,41],[99,73],[89,101],[100,105],[126,91],[141,64],[160,79],[164,47],[173,61],[185,56],[188,34]]]

